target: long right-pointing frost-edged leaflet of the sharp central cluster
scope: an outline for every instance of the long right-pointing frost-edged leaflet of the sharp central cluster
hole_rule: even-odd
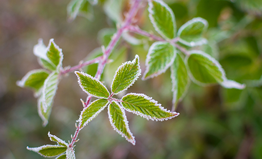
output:
[[[126,111],[140,115],[147,120],[164,121],[179,115],[161,107],[157,101],[145,94],[129,93],[122,97],[121,105]]]

